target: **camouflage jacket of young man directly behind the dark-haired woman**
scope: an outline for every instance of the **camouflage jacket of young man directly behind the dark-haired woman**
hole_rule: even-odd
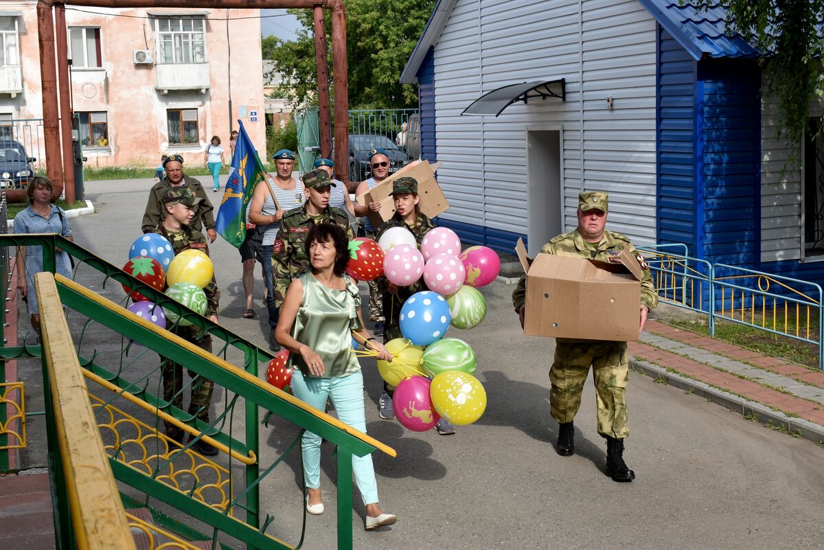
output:
[[[316,223],[335,223],[346,230],[349,240],[353,240],[354,233],[349,223],[349,216],[338,207],[326,207],[318,216],[307,213],[307,203],[293,208],[280,218],[278,238],[272,245],[272,277],[274,278],[274,305],[280,307],[286,289],[293,278],[310,268],[309,258],[303,243],[309,233],[309,228]]]

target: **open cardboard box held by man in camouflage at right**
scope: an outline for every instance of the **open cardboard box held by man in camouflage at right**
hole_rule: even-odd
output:
[[[515,249],[527,273],[524,334],[638,340],[644,271],[629,249],[616,257],[620,263],[554,254],[538,254],[530,262],[522,240]]]

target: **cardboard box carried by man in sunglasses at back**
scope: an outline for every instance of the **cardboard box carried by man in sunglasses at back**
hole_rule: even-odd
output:
[[[392,200],[392,182],[402,176],[409,176],[418,181],[418,196],[420,197],[420,211],[428,217],[436,217],[449,209],[447,198],[435,180],[435,170],[438,170],[440,162],[430,165],[429,161],[420,161],[416,164],[406,165],[395,174],[384,179],[367,193],[358,195],[355,200],[358,204],[381,203],[380,212],[368,212],[372,226],[380,227],[381,224],[395,215],[395,202]]]

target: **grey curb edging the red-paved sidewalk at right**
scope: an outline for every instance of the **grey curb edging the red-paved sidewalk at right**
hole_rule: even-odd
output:
[[[742,416],[755,415],[758,422],[775,422],[777,425],[787,426],[788,431],[798,431],[804,439],[813,442],[824,441],[824,426],[819,426],[815,422],[809,422],[803,418],[789,417],[788,415],[775,411],[766,405],[756,401],[744,399],[736,394],[731,394],[723,389],[714,388],[711,385],[694,380],[684,375],[677,374],[662,366],[653,365],[642,359],[630,358],[630,366],[645,375],[661,378],[667,385],[674,388],[687,390],[691,389],[695,395],[708,399],[713,403],[728,408],[731,411],[742,414]]]

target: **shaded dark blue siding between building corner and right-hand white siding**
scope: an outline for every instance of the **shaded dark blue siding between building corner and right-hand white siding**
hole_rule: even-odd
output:
[[[713,263],[760,269],[761,75],[745,60],[697,64],[700,98],[696,170],[703,241],[695,255]]]

